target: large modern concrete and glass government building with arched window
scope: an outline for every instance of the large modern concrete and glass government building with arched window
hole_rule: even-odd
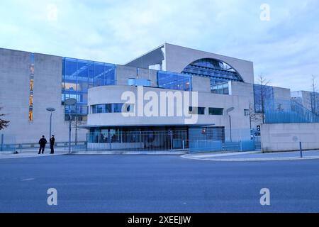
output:
[[[125,102],[123,94],[139,97],[139,91],[173,94],[166,97],[166,107],[175,114],[138,114],[138,101]],[[194,103],[177,104],[175,98],[194,92]],[[67,106],[67,99],[77,104]],[[291,112],[290,102],[290,89],[254,84],[253,62],[168,43],[125,65],[0,49],[0,106],[11,121],[0,134],[16,135],[18,144],[49,137],[47,108],[55,109],[52,134],[57,142],[68,141],[69,114],[72,141],[105,143],[103,149],[111,143],[117,146],[113,149],[120,149],[120,143],[139,148],[141,139],[136,137],[142,132],[154,146],[160,143],[155,143],[160,132],[176,138],[182,131],[183,143],[203,135],[223,143],[251,140],[267,121],[261,117],[267,110]],[[152,106],[158,113],[161,108]],[[187,121],[192,116],[196,121]],[[174,143],[177,148],[184,145]]]

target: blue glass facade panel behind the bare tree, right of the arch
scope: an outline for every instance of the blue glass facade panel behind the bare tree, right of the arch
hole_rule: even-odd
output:
[[[274,108],[274,88],[266,85],[254,84],[254,111],[264,113]]]

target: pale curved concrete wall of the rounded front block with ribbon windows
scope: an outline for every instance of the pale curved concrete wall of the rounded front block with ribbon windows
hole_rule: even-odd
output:
[[[144,87],[144,94],[146,92],[155,92],[159,96],[159,92],[172,92],[167,89],[157,89]],[[138,88],[132,86],[107,86],[94,87],[89,89],[89,106],[96,104],[118,104],[124,103],[121,100],[123,92],[133,92],[138,96]],[[173,91],[181,92],[182,91]],[[108,94],[112,94],[111,96]],[[147,103],[147,101],[145,101]],[[196,126],[225,126],[229,128],[229,118],[225,110],[230,107],[235,107],[235,110],[230,113],[232,116],[233,128],[250,128],[249,117],[245,116],[244,109],[248,109],[249,101],[245,96],[228,96],[211,93],[198,93],[198,106],[206,107],[205,115],[198,115],[198,122]],[[208,107],[223,108],[223,116],[208,115]],[[135,109],[137,104],[135,104]],[[186,107],[188,109],[188,106]],[[91,112],[91,111],[90,111]],[[130,116],[124,117],[120,114],[89,114],[88,126],[174,126],[186,125],[185,116],[174,117],[143,117]]]

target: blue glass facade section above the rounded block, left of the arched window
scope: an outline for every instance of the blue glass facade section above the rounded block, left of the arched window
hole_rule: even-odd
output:
[[[181,91],[191,91],[191,75],[175,72],[157,72],[157,82],[159,88],[173,89]]]

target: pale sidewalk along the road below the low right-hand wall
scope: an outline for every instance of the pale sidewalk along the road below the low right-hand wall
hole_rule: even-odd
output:
[[[281,153],[261,153],[247,152],[247,153],[204,153],[204,154],[188,154],[181,157],[202,160],[202,161],[219,161],[219,162],[256,162],[256,161],[281,161],[281,160],[313,160],[319,159],[319,150],[303,151],[303,158],[301,158],[300,152],[281,152]]]

